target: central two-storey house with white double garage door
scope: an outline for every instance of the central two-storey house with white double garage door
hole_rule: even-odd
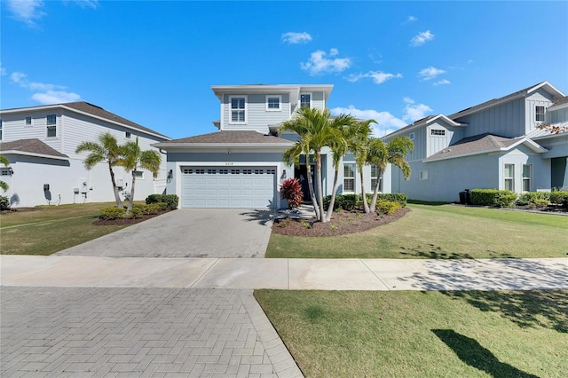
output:
[[[280,183],[301,179],[307,194],[305,159],[292,167],[282,155],[293,146],[296,134],[279,135],[281,122],[302,106],[324,109],[333,85],[212,86],[220,101],[217,132],[154,144],[167,151],[172,177],[168,193],[180,197],[182,208],[281,209]],[[334,169],[329,150],[322,156],[323,193],[333,190]],[[359,190],[352,155],[344,159],[340,193]],[[371,168],[368,183],[371,184]],[[313,169],[315,170],[315,169]]]

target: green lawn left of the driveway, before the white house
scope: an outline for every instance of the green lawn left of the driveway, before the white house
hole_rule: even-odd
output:
[[[36,211],[16,211],[0,216],[2,255],[51,255],[65,248],[124,228],[94,225],[100,209],[109,203],[39,206]]]

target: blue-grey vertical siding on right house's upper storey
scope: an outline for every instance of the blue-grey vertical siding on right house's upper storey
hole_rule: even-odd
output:
[[[456,118],[454,121],[469,124],[465,129],[465,138],[484,133],[517,138],[525,134],[525,98],[492,106],[475,114]]]

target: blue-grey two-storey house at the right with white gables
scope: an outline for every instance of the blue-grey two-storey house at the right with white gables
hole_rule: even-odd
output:
[[[390,169],[394,193],[422,201],[458,201],[465,189],[506,189],[517,193],[568,186],[568,132],[552,134],[540,124],[568,125],[568,98],[543,82],[472,106],[439,114],[390,133],[406,136],[414,153],[405,181]]]

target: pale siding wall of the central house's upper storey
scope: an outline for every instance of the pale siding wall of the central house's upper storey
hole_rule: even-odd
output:
[[[280,96],[280,111],[266,110],[266,96]],[[246,96],[247,112],[245,123],[231,123],[232,97]],[[287,121],[290,118],[290,97],[288,94],[224,94],[221,130],[258,130],[268,132],[268,125]]]

